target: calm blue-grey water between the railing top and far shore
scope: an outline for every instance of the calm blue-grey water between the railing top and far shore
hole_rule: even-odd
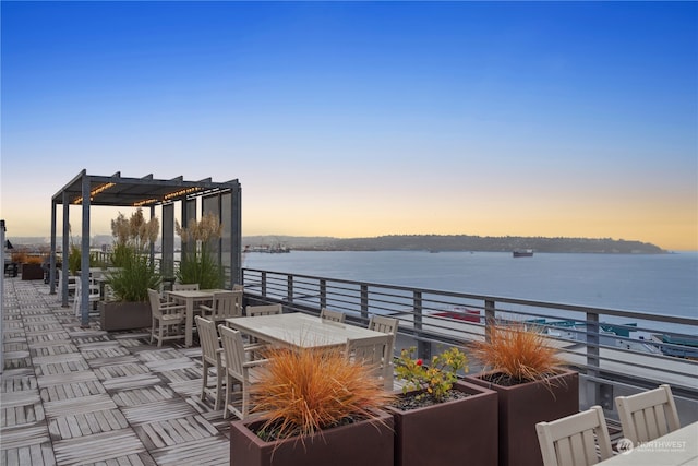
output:
[[[437,290],[698,316],[698,253],[246,253],[243,266]]]

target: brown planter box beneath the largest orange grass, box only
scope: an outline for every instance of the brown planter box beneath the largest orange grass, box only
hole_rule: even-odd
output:
[[[393,415],[381,411],[364,420],[323,431],[305,439],[265,442],[248,426],[230,423],[231,466],[393,466]]]

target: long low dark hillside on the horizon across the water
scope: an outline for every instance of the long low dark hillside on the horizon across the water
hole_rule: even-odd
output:
[[[390,235],[375,238],[256,236],[243,237],[243,246],[284,246],[308,251],[513,251],[579,252],[604,254],[663,254],[647,242],[611,238],[479,237],[469,235]]]

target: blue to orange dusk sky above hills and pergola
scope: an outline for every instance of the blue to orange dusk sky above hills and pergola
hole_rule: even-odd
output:
[[[10,238],[84,168],[239,179],[245,236],[698,250],[696,2],[0,8]]]

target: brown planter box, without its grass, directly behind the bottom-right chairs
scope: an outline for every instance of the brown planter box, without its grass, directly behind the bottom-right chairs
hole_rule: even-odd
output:
[[[483,380],[485,372],[466,380],[497,392],[500,466],[542,466],[535,423],[579,413],[579,374],[566,370],[546,382],[503,386]]]

